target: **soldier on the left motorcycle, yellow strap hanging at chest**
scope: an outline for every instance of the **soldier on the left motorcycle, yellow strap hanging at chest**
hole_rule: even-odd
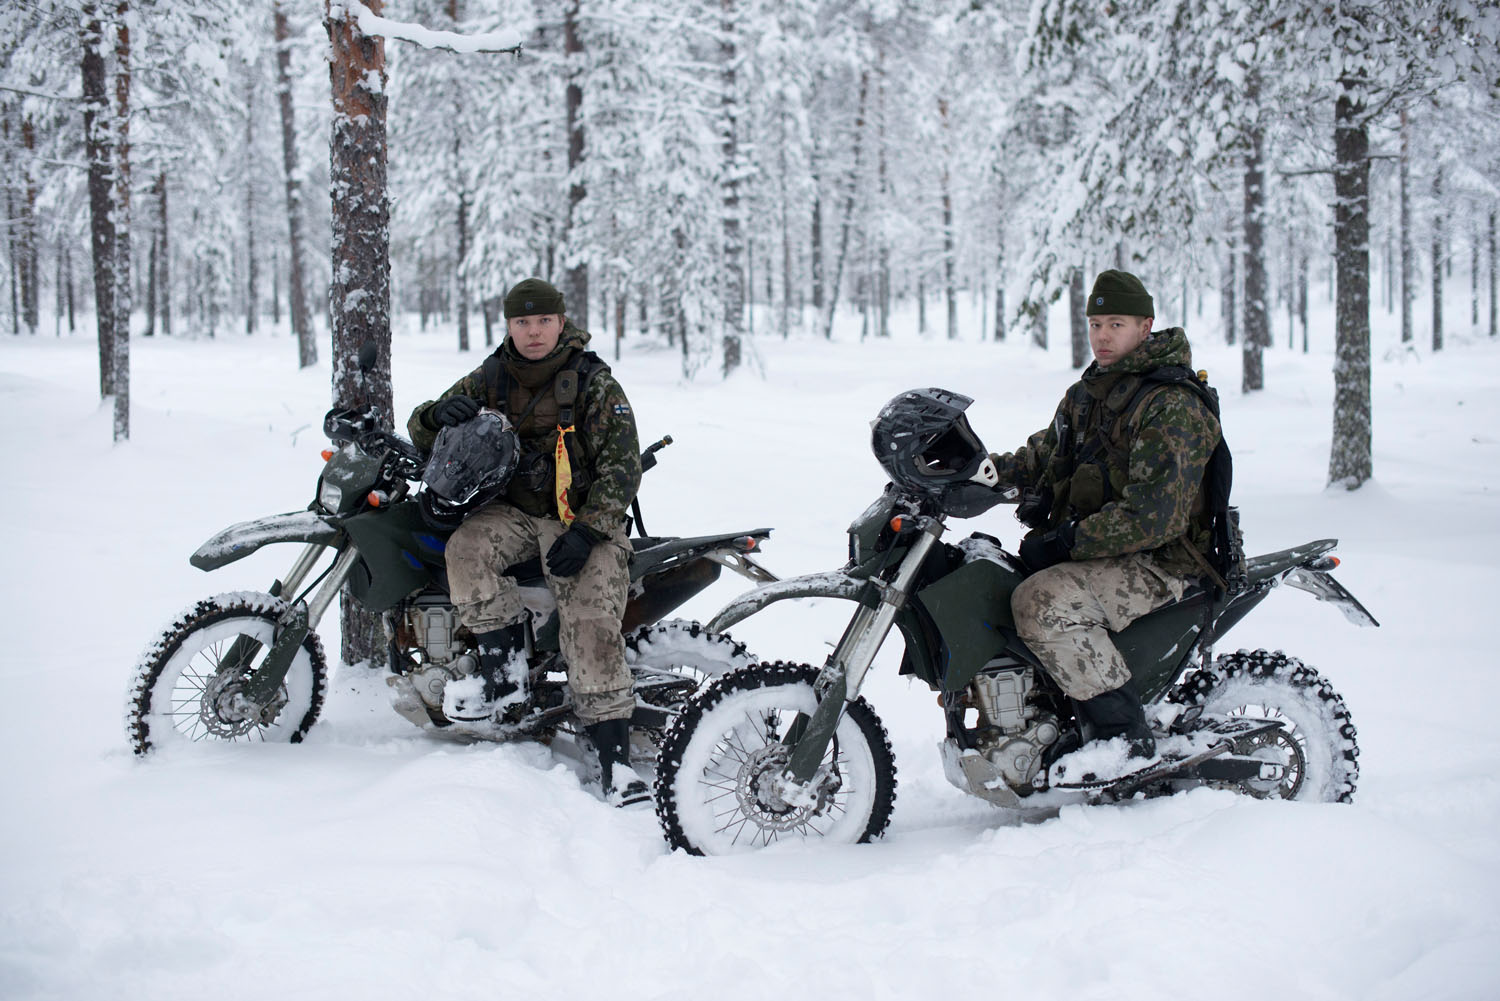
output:
[[[590,335],[567,321],[556,288],[528,278],[506,294],[504,312],[507,336],[495,354],[406,422],[411,440],[430,449],[440,428],[488,407],[510,419],[522,444],[506,497],[471,513],[448,540],[448,587],[478,642],[484,686],[450,686],[458,695],[444,711],[489,719],[525,698],[525,608],[501,572],[546,554],[576,713],[598,749],[606,794],[628,806],[648,797],[628,764],[634,695],[620,633],[630,588],[626,510],[640,486],[634,416],[609,366],[586,353]],[[568,410],[573,423],[564,426]]]

